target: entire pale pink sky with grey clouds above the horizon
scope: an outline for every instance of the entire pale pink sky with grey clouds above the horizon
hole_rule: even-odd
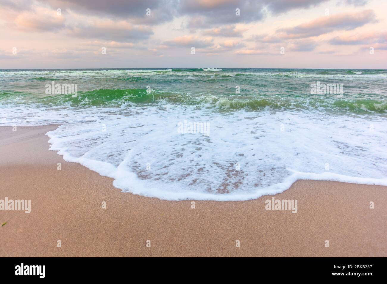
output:
[[[0,69],[385,69],[386,11],[386,0],[0,0]]]

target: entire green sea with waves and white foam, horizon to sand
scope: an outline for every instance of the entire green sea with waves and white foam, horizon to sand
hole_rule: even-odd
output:
[[[161,199],[253,199],[301,178],[387,185],[386,79],[387,70],[0,70],[0,124],[63,123],[48,133],[52,150]],[[77,84],[77,96],[47,94],[52,82]],[[342,96],[311,94],[318,82],[341,85]]]

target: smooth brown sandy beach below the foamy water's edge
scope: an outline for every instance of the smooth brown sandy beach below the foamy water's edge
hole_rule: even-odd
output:
[[[31,199],[30,214],[0,211],[8,221],[1,257],[387,256],[387,187],[298,180],[275,195],[297,199],[296,214],[265,210],[272,196],[191,209],[191,201],[122,193],[112,179],[65,162],[48,150],[45,133],[55,128],[0,127],[0,199]]]

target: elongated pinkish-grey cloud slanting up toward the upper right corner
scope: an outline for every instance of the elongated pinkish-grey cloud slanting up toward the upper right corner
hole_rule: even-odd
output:
[[[319,36],[335,30],[352,30],[372,22],[376,22],[375,13],[372,10],[364,10],[323,16],[295,27],[278,29],[277,34],[288,39]]]

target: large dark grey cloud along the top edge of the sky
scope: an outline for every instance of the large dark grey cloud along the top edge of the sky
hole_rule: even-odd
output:
[[[207,24],[253,22],[264,17],[265,10],[274,14],[293,9],[307,9],[327,0],[37,0],[53,8],[71,9],[89,15],[113,15],[135,19],[138,24],[159,24],[179,16],[204,16]],[[365,0],[346,0],[360,3]],[[10,2],[7,0],[7,2]],[[12,5],[12,2],[9,3]],[[235,9],[240,9],[240,16]],[[151,16],[146,16],[151,9]]]

